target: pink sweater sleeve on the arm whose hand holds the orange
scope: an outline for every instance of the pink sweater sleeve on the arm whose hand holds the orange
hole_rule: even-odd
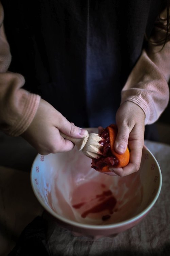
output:
[[[165,35],[166,30],[155,26],[153,43],[143,50],[121,93],[121,104],[131,101],[143,109],[145,124],[154,123],[169,102],[170,41],[162,50],[154,44]]]

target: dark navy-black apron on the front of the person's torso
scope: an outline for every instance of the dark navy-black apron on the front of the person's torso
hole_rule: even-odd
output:
[[[115,123],[163,0],[2,0],[10,70],[81,127]]]

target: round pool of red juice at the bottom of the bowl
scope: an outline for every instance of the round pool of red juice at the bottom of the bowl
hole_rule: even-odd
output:
[[[72,194],[72,207],[86,221],[105,221],[116,211],[117,200],[102,183],[91,181],[77,187]]]

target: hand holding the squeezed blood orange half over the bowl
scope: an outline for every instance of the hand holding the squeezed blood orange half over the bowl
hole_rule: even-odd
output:
[[[145,113],[132,102],[124,102],[116,113],[118,134],[115,140],[117,153],[124,153],[130,148],[130,163],[123,168],[112,168],[108,175],[126,176],[137,172],[140,167],[142,148],[144,145]]]

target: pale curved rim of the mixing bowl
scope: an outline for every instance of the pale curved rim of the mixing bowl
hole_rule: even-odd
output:
[[[156,158],[154,157],[154,155],[152,154],[152,152],[144,145],[143,148],[145,148],[150,154],[151,156],[153,157],[153,159],[155,160],[155,162],[157,163],[157,166],[158,166],[158,171],[159,171],[159,178],[160,178],[160,182],[159,182],[159,187],[158,187],[158,190],[157,190],[157,193],[155,194],[154,196],[154,199],[152,200],[152,202],[145,208],[145,210],[143,210],[141,213],[137,214],[136,216],[132,217],[132,218],[129,218],[127,220],[124,220],[124,221],[120,221],[116,224],[105,224],[105,225],[95,225],[95,224],[83,224],[83,223],[79,223],[79,222],[76,222],[74,220],[69,220],[65,217],[62,217],[60,216],[59,214],[55,213],[51,208],[49,208],[41,199],[40,197],[38,196],[35,188],[34,188],[34,184],[33,184],[33,166],[34,166],[34,163],[37,159],[38,156],[40,156],[40,154],[38,153],[37,156],[35,157],[33,163],[32,163],[32,166],[31,166],[31,173],[30,173],[30,179],[31,179],[31,186],[32,186],[32,189],[33,189],[33,192],[35,194],[35,197],[37,198],[38,202],[40,203],[41,206],[44,207],[44,209],[50,213],[53,217],[59,219],[60,221],[64,222],[64,223],[67,223],[69,225],[72,225],[72,226],[75,226],[75,227],[78,227],[78,228],[84,228],[84,229],[93,229],[93,230],[105,230],[105,229],[113,229],[113,228],[119,228],[119,227],[123,227],[123,226],[126,226],[126,225],[130,225],[134,222],[136,222],[137,220],[143,218],[144,216],[146,216],[148,214],[148,212],[151,210],[151,208],[154,206],[154,204],[156,203],[158,197],[159,197],[159,194],[160,194],[160,191],[161,191],[161,188],[162,188],[162,173],[161,173],[161,170],[160,170],[160,167],[159,167],[159,164],[156,160]]]

